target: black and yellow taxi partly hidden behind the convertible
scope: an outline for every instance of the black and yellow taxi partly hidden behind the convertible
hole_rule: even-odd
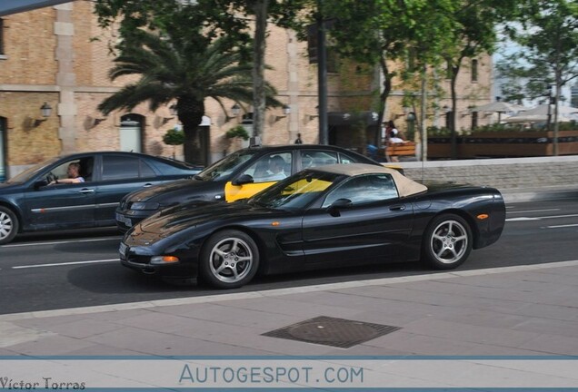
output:
[[[364,155],[335,146],[249,147],[215,162],[192,180],[175,181],[126,195],[116,210],[116,223],[118,229],[125,232],[154,212],[182,202],[245,199],[297,171],[334,163],[381,166]]]

